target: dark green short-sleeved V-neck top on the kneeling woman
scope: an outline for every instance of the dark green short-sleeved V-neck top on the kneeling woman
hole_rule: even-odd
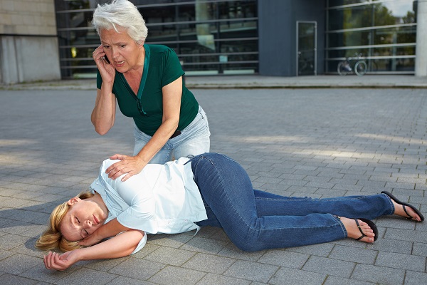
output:
[[[144,71],[138,94],[133,92],[125,76],[118,71],[116,71],[112,93],[115,94],[123,115],[133,118],[139,130],[152,136],[162,125],[162,87],[183,76],[184,71],[172,48],[148,44],[144,44],[144,48]],[[102,78],[97,71],[97,88],[100,89],[101,85]],[[196,118],[198,111],[199,103],[193,93],[185,87],[183,78],[178,130],[184,130]]]

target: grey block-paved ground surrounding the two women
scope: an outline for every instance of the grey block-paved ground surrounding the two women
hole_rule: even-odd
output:
[[[255,188],[302,197],[389,190],[426,215],[427,80],[361,79],[186,82],[208,114],[211,151],[241,162]],[[397,217],[375,220],[374,244],[241,252],[206,227],[149,236],[132,257],[48,271],[33,244],[51,209],[88,189],[105,157],[132,152],[132,120],[120,114],[110,133],[95,133],[93,80],[2,86],[0,98],[0,284],[427,284],[427,222]]]

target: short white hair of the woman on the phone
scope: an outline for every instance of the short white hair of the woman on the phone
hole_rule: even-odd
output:
[[[138,44],[142,44],[147,38],[148,29],[137,7],[128,0],[112,0],[107,4],[98,4],[93,12],[93,26],[99,36],[100,30],[120,32],[125,30],[127,34]]]

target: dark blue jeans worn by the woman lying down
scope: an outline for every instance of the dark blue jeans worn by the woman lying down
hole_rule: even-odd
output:
[[[312,199],[282,197],[253,190],[246,171],[216,153],[191,158],[194,181],[208,219],[199,226],[222,227],[236,247],[246,251],[300,247],[347,237],[336,217],[366,218],[393,214],[384,194]]]

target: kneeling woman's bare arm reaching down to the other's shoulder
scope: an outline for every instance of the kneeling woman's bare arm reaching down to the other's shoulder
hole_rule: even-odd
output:
[[[127,173],[122,177],[122,181],[126,181],[132,175],[141,172],[142,168],[159,152],[160,149],[171,138],[179,123],[179,114],[181,110],[181,95],[182,95],[182,76],[169,83],[162,88],[163,93],[163,118],[162,125],[157,129],[156,133],[152,136],[147,145],[142,147],[142,150],[135,156],[127,155],[113,155],[110,157],[112,160],[121,160],[115,162],[105,171],[108,177],[116,179],[121,175]]]

